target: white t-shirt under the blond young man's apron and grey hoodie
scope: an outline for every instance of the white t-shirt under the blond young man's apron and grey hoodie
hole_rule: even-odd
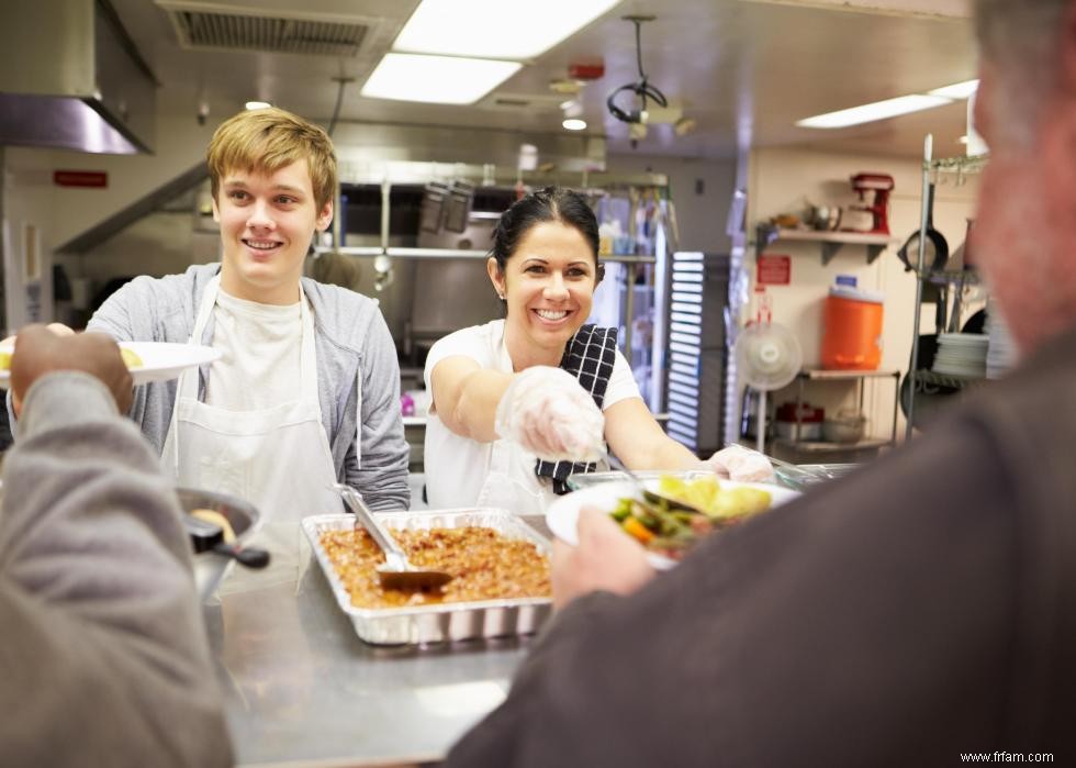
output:
[[[259,304],[223,290],[213,308],[213,365],[205,404],[225,411],[261,411],[298,400],[303,323],[299,302]]]

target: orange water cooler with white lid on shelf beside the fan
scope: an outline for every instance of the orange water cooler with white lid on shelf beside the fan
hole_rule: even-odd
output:
[[[822,368],[876,370],[882,363],[883,297],[854,286],[829,289],[822,311]]]

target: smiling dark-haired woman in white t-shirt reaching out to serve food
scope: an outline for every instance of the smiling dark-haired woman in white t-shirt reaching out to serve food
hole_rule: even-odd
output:
[[[632,469],[706,468],[639,396],[617,330],[584,324],[603,276],[586,199],[548,188],[501,216],[486,261],[504,320],[446,336],[426,360],[433,507],[540,512],[606,443]]]

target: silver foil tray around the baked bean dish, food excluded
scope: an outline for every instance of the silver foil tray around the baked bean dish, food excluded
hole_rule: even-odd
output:
[[[455,528],[469,525],[494,528],[508,538],[534,542],[539,552],[551,552],[549,539],[516,515],[501,509],[470,508],[423,510],[416,512],[379,512],[378,519],[389,528]],[[514,598],[473,602],[416,605],[414,608],[356,608],[351,597],[322,547],[326,531],[349,531],[355,517],[349,514],[322,514],[302,522],[314,556],[322,566],[336,597],[336,603],[351,620],[356,633],[371,645],[427,645],[482,637],[526,635],[537,632],[552,612],[551,598]]]

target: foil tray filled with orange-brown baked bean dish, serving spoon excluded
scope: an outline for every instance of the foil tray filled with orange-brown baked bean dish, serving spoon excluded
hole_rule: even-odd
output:
[[[337,605],[372,645],[426,645],[537,632],[552,611],[547,538],[500,509],[381,512],[408,559],[453,575],[444,594],[383,590],[382,561],[350,514],[304,517],[302,527]]]

